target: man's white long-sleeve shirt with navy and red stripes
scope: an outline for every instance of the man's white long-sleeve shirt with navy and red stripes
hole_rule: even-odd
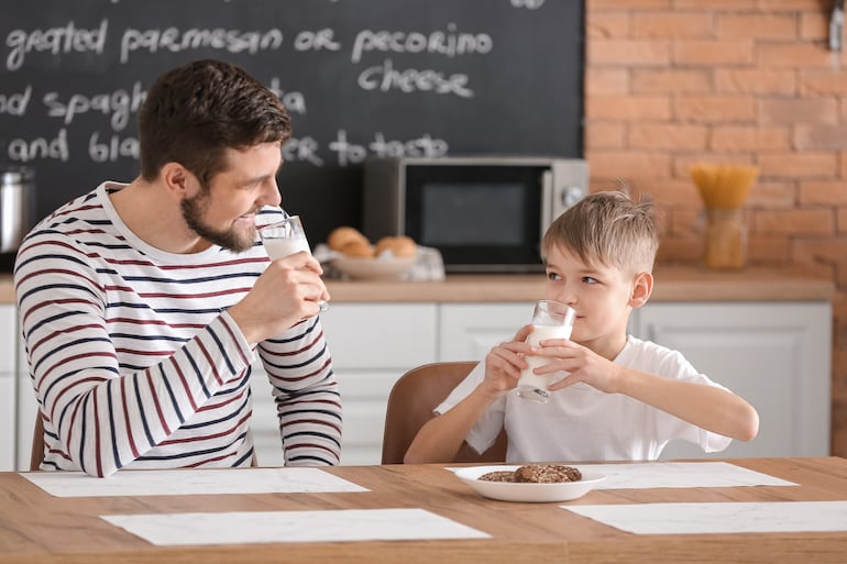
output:
[[[45,428],[44,469],[250,465],[250,365],[271,380],[287,465],[338,464],[341,402],[318,318],[258,344],[227,313],[267,266],[257,243],[172,254],[138,239],[103,184],[21,245],[15,295]],[[256,223],[279,219],[265,209]]]

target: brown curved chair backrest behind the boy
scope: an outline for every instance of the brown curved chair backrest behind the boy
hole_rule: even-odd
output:
[[[435,409],[468,376],[475,362],[441,362],[413,368],[398,379],[388,396],[383,433],[383,464],[403,464],[403,457],[418,430],[435,417]],[[503,462],[506,433],[501,432],[491,449],[477,454],[466,443],[452,461]]]

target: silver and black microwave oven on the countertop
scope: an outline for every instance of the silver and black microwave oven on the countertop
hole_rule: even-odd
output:
[[[540,272],[544,230],[587,184],[580,158],[370,157],[362,229],[438,248],[448,273]]]

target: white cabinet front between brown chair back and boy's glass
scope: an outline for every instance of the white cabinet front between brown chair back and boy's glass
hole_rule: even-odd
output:
[[[532,319],[532,303],[444,303],[440,361],[482,361],[492,346],[510,340]]]

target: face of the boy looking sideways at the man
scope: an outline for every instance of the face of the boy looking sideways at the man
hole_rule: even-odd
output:
[[[571,339],[598,354],[616,355],[632,311],[632,277],[600,262],[585,264],[559,246],[550,250],[546,273],[546,298],[576,310]]]

